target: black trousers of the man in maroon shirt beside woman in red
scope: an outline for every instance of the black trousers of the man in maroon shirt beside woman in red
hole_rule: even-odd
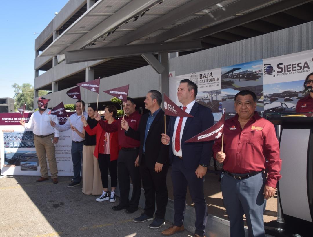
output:
[[[117,159],[117,177],[120,187],[120,205],[138,208],[141,194],[141,178],[139,167],[135,166],[138,150],[120,150]],[[129,200],[130,178],[133,184],[131,200]]]

